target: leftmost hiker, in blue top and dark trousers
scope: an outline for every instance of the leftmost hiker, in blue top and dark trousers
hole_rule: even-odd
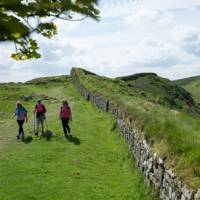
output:
[[[17,116],[17,123],[19,126],[19,132],[16,137],[19,140],[20,136],[21,136],[21,139],[23,140],[24,139],[23,124],[24,124],[25,120],[26,120],[26,122],[28,122],[28,117],[27,117],[26,108],[24,108],[24,106],[19,101],[17,101],[17,103],[16,103],[16,110],[15,110],[15,113],[13,114],[12,118],[14,118],[15,116]]]

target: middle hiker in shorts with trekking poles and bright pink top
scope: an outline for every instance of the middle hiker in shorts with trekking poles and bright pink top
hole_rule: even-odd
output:
[[[34,112],[34,115],[36,113],[36,122],[37,122],[37,130],[35,132],[35,135],[38,136],[40,124],[42,128],[42,134],[44,134],[44,120],[46,119],[45,117],[46,107],[44,104],[42,104],[41,100],[37,101],[37,104],[35,105],[35,110],[33,112]]]

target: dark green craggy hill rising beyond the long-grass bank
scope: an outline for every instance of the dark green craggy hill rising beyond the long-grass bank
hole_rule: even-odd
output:
[[[125,81],[128,87],[140,90],[152,102],[200,113],[199,106],[188,91],[155,73],[141,73],[118,79]]]

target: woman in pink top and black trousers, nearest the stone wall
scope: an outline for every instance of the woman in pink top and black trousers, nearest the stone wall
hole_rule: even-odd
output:
[[[65,137],[68,138],[69,136],[71,138],[72,136],[70,134],[69,121],[72,121],[72,113],[67,101],[62,102],[62,106],[60,108],[60,120],[62,121]]]

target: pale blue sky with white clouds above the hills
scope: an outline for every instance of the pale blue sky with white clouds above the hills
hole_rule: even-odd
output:
[[[0,82],[69,74],[72,67],[108,77],[200,75],[199,0],[100,0],[100,11],[99,22],[57,20],[53,39],[37,37],[40,59],[14,61],[14,45],[0,43]]]

